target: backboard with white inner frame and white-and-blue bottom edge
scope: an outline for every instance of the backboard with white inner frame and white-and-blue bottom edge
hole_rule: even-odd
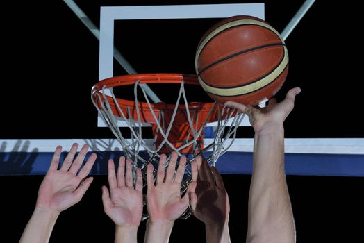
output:
[[[90,31],[66,1],[23,3],[17,15],[23,24],[6,26],[3,76],[13,80],[3,81],[0,174],[44,174],[56,145],[69,149],[73,142],[90,144],[100,155],[92,172],[106,173],[108,157],[122,151],[99,120],[90,89],[103,78],[127,73],[128,68],[113,58],[117,51],[138,73],[194,74],[197,44],[220,19],[254,15],[281,32],[304,3],[72,2],[85,14],[81,19],[93,22],[95,28]],[[15,9],[15,3],[7,4]],[[339,9],[335,4],[332,8]],[[288,174],[364,176],[364,122],[355,115],[360,96],[351,83],[360,68],[338,61],[347,60],[347,53],[326,45],[340,46],[346,37],[337,35],[327,20],[330,17],[322,18],[324,5],[314,3],[286,40],[290,70],[277,99],[283,99],[291,87],[302,89],[285,124],[286,170]],[[175,87],[152,89],[173,101]],[[208,97],[191,90],[189,99]],[[243,124],[229,153],[217,162],[222,173],[251,173],[254,132],[247,120]],[[143,129],[149,133],[150,128]]]

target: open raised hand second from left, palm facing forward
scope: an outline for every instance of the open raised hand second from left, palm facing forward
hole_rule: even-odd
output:
[[[126,164],[126,173],[125,173]],[[106,215],[120,227],[138,228],[142,220],[143,195],[142,171],[138,168],[135,188],[133,187],[131,160],[119,158],[119,167],[115,174],[115,165],[112,159],[108,160],[108,184],[102,187],[102,202]]]

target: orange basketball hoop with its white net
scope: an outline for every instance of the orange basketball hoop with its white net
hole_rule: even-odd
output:
[[[143,83],[180,85],[175,104],[151,103],[143,88]],[[134,85],[134,101],[115,97],[113,87]],[[220,103],[190,102],[185,95],[185,85],[199,85],[197,76],[186,74],[130,74],[99,81],[92,87],[91,99],[104,122],[122,146],[126,157],[135,168],[144,168],[150,162],[158,165],[161,153],[167,156],[176,151],[179,156],[187,156],[187,165],[201,155],[210,165],[224,154],[235,140],[236,130],[244,115]],[[146,102],[138,101],[142,92]],[[126,139],[118,126],[122,119],[130,128],[131,139]],[[204,146],[204,128],[217,121],[213,142]],[[142,123],[152,126],[154,142],[150,144],[142,138]],[[229,126],[228,126],[229,125]],[[232,138],[228,140],[228,138]],[[229,143],[226,143],[229,141]],[[169,158],[167,158],[166,166]],[[156,169],[155,169],[156,171]],[[143,175],[145,176],[145,175]],[[181,194],[187,190],[190,170],[185,169]],[[190,212],[181,217],[187,218]]]

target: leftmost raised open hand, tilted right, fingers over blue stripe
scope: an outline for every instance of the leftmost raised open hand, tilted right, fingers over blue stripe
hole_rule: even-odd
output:
[[[88,145],[83,145],[80,153],[74,159],[77,149],[78,144],[73,144],[62,166],[58,169],[62,147],[57,146],[49,170],[40,185],[37,206],[61,212],[82,199],[92,182],[93,178],[86,178],[86,176],[90,173],[97,156],[92,153],[82,167]]]

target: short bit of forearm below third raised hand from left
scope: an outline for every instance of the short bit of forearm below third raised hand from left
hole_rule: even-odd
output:
[[[147,221],[144,243],[163,243],[169,242],[174,221],[151,222]]]

